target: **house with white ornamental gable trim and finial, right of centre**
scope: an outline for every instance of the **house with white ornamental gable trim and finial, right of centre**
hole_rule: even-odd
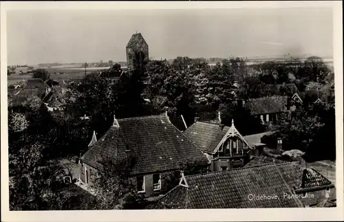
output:
[[[221,116],[219,113],[219,122]],[[209,170],[229,170],[244,166],[253,155],[260,155],[265,144],[260,139],[268,133],[242,136],[232,125],[224,126],[211,122],[195,122],[184,131],[184,135],[211,159]]]

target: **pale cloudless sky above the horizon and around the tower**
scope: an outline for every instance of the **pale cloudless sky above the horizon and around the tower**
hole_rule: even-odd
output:
[[[136,32],[151,58],[333,55],[332,8],[12,10],[8,64],[125,61]]]

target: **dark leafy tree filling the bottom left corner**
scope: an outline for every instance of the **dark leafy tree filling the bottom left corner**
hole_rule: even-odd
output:
[[[23,144],[10,155],[10,210],[52,210],[65,170],[57,162],[43,166],[43,146]]]

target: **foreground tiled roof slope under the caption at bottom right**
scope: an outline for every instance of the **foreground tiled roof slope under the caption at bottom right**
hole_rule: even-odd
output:
[[[167,208],[297,208],[298,199],[283,198],[294,194],[299,184],[300,164],[267,164],[248,168],[187,176],[189,186],[177,186],[147,209]],[[249,195],[277,195],[279,199],[250,200]]]

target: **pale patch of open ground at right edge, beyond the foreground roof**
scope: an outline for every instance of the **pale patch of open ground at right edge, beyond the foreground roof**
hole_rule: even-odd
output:
[[[336,184],[336,162],[330,160],[322,160],[312,163],[307,163],[307,167],[313,168],[321,175]]]

